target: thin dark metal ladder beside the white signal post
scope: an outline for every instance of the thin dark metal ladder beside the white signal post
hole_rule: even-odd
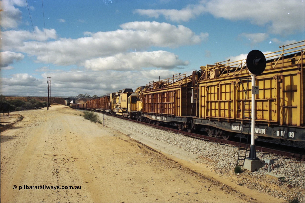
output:
[[[240,140],[239,140],[239,149],[238,149],[238,156],[237,156],[236,166],[238,166],[239,161],[242,161],[242,160],[244,161],[242,165],[244,165],[244,163],[245,163],[245,159],[246,159],[246,156],[247,156],[247,149],[248,149],[248,141],[249,141],[250,128],[251,128],[251,108],[250,108],[250,102],[247,104],[247,99],[249,99],[249,98],[251,99],[251,96],[247,96],[248,91],[251,90],[251,89],[248,89],[248,85],[249,85],[249,82],[251,82],[251,78],[241,78],[241,79],[239,79],[239,81],[242,84],[242,89],[243,89],[242,91],[245,93],[245,100],[244,100],[244,105],[243,105],[244,108],[242,110],[242,124],[241,124],[241,130],[240,130]],[[242,81],[247,82],[246,89],[245,89],[244,83]],[[249,106],[248,109],[246,109],[246,106]],[[248,113],[249,117],[246,117],[245,113]],[[248,127],[243,127],[245,119],[249,120]],[[247,142],[246,142],[246,149],[244,149],[245,150],[245,156],[240,156],[240,150],[243,150],[243,149],[241,149],[241,142],[242,142],[242,131],[243,131],[244,128],[248,128]]]

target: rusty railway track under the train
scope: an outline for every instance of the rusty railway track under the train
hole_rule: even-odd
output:
[[[110,114],[107,114],[107,115],[110,115]],[[110,115],[110,116],[114,116],[114,115]],[[117,117],[117,116],[115,116],[115,117]],[[183,134],[183,135],[186,135],[186,136],[192,136],[194,138],[202,138],[202,139],[205,139],[205,140],[211,140],[211,141],[218,142],[218,143],[223,143],[223,144],[231,144],[231,145],[234,145],[236,147],[239,147],[239,140],[240,140],[239,137],[235,137],[232,140],[223,140],[220,137],[209,137],[208,135],[202,135],[202,134],[198,134],[198,133],[195,133],[195,132],[181,131],[181,130],[175,129],[174,127],[171,127],[171,126],[150,124],[150,123],[136,121],[136,120],[132,120],[132,119],[129,119],[129,118],[124,118],[124,117],[117,117],[117,118],[141,123],[141,124],[144,124],[144,125],[149,125],[149,126],[152,126],[152,127],[160,128],[160,129],[163,129],[163,130],[168,130],[168,131],[171,131],[171,132],[180,133],[180,134]],[[244,149],[246,149],[246,147],[249,148],[249,144],[248,145],[246,144],[246,139],[245,138],[242,138],[241,147],[244,148]],[[302,148],[302,147],[289,146],[289,145],[266,142],[266,141],[261,141],[261,140],[256,140],[255,141],[255,147],[256,147],[257,152],[273,153],[273,154],[277,154],[277,155],[281,155],[281,156],[286,156],[286,157],[289,157],[289,158],[297,158],[300,161],[305,161],[305,148]],[[247,150],[249,150],[249,149],[247,149]]]

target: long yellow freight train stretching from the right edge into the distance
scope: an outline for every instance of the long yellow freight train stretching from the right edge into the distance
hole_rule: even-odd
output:
[[[265,54],[265,69],[256,75],[255,135],[260,138],[305,140],[304,42]],[[246,60],[226,60],[202,66],[191,75],[179,73],[135,92],[122,89],[72,107],[174,125],[188,132],[197,129],[228,140],[248,134],[252,92]]]

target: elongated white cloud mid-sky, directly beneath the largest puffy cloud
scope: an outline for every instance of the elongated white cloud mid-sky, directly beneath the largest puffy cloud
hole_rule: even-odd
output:
[[[188,61],[178,59],[174,53],[166,51],[119,53],[104,58],[86,60],[84,67],[98,70],[140,70],[146,67],[172,69],[186,66]]]

